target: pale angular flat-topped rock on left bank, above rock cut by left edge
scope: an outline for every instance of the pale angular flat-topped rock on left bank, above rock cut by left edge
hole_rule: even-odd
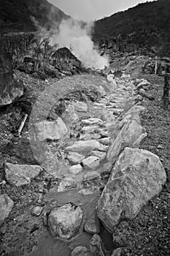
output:
[[[20,187],[30,184],[32,178],[36,178],[42,171],[38,165],[13,165],[9,162],[4,164],[5,177],[9,184]]]

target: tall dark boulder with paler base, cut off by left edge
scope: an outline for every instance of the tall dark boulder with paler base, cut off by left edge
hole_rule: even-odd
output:
[[[11,104],[22,95],[23,83],[14,79],[12,58],[0,45],[0,107]]]

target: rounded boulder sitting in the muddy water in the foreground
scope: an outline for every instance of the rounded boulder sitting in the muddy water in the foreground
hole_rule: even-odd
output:
[[[50,232],[54,238],[72,238],[80,229],[82,218],[82,209],[72,203],[54,208],[48,217]]]

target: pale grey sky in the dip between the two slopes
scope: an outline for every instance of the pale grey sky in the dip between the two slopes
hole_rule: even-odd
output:
[[[96,20],[153,0],[47,0],[79,20]]]

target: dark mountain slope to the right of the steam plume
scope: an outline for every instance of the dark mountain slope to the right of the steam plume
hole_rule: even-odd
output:
[[[170,41],[170,1],[158,0],[138,4],[125,12],[97,20],[93,40],[119,43],[119,48],[163,48]],[[124,44],[124,45],[123,45]],[[135,48],[135,47],[134,47]]]

